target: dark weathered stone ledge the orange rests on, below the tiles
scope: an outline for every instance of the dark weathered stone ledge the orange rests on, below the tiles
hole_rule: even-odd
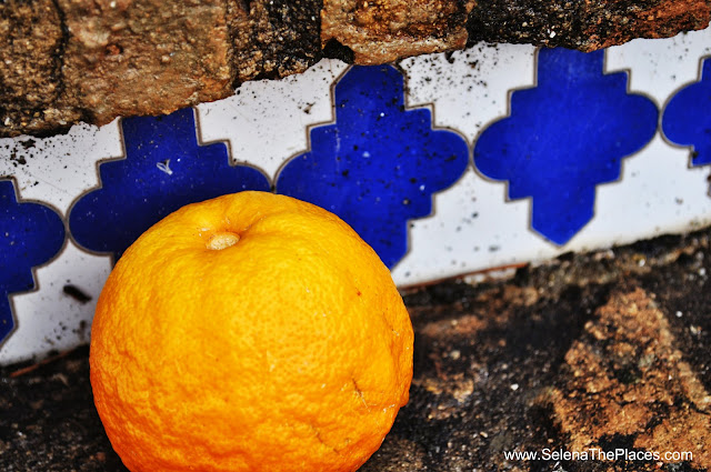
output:
[[[710,263],[707,229],[408,291],[410,402],[361,472],[708,472]],[[87,354],[0,369],[0,470],[126,472]],[[588,449],[627,458],[507,458]]]

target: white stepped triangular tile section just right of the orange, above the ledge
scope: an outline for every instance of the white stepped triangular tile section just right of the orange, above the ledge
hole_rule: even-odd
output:
[[[505,185],[471,168],[434,195],[434,213],[414,220],[410,251],[392,271],[395,283],[431,280],[555,255],[530,228],[530,199],[507,201]]]

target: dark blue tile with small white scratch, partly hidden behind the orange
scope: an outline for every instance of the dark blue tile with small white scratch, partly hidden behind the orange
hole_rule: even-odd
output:
[[[72,237],[117,259],[148,228],[188,203],[243,190],[269,191],[257,169],[230,165],[224,143],[199,145],[192,109],[121,121],[126,159],[100,165],[101,188],[71,209]]]

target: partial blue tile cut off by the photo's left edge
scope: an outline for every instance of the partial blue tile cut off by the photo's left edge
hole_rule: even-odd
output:
[[[0,180],[0,343],[14,329],[9,294],[34,287],[32,268],[64,244],[64,223],[52,209],[18,202],[14,184]]]

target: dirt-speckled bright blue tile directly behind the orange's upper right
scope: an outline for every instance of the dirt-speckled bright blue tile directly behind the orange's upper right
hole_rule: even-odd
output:
[[[391,268],[408,250],[408,220],[432,212],[432,193],[462,175],[469,148],[433,130],[429,109],[405,110],[390,66],[351,68],[334,101],[336,122],[311,130],[311,150],[283,168],[277,192],[334,212]]]

